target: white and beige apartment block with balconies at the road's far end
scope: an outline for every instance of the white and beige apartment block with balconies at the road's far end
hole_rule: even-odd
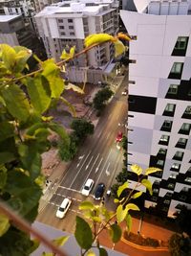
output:
[[[63,49],[75,45],[78,53],[90,34],[115,35],[118,29],[116,0],[63,1],[46,7],[35,15],[40,37],[49,58],[59,60]],[[114,46],[107,43],[71,61],[67,67],[70,81],[102,81],[104,70],[114,58]],[[109,70],[109,68],[107,69]]]

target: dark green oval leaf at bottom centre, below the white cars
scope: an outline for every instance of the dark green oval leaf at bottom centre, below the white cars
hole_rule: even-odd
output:
[[[88,222],[84,221],[82,218],[76,216],[76,225],[74,231],[74,237],[83,249],[90,249],[93,244],[93,234]]]

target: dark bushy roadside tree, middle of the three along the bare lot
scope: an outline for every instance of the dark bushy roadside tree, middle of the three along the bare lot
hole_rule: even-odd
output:
[[[74,129],[74,135],[78,138],[78,141],[81,142],[87,137],[87,135],[94,133],[95,126],[91,121],[75,118],[71,123],[71,128]]]

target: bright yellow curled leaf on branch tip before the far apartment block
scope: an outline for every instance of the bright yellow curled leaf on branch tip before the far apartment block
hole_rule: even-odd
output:
[[[102,43],[102,42],[108,42],[108,41],[116,41],[117,39],[113,35],[109,34],[93,34],[88,35],[85,38],[84,44],[86,47],[90,47],[93,44],[96,43]]]

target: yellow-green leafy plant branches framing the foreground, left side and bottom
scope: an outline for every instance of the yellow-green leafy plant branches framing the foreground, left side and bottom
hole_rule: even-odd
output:
[[[113,42],[117,54],[121,54],[124,46],[118,40],[120,37],[129,39],[121,34],[116,37],[88,36],[85,40],[87,49],[81,54],[104,42]],[[63,51],[61,58],[64,60],[59,64],[53,59],[41,61],[35,57],[40,69],[26,75],[29,68],[27,61],[32,52],[21,46],[0,45],[0,199],[11,207],[12,212],[16,212],[30,223],[37,216],[38,202],[42,195],[41,154],[51,147],[49,135],[56,132],[64,141],[65,151],[70,150],[69,135],[63,127],[53,122],[53,117],[47,113],[51,105],[61,101],[68,105],[74,114],[74,107],[64,99],[63,92],[71,88],[79,93],[83,91],[72,84],[66,85],[60,77],[61,72],[65,70],[64,63],[74,58],[74,51],[74,47],[70,53]],[[77,56],[79,55],[80,53]],[[146,177],[149,173],[156,172],[156,169],[148,169],[142,174],[143,170],[134,166],[132,171]],[[139,181],[152,193],[151,183],[146,178]],[[127,186],[128,184],[124,183],[118,188],[118,197]],[[80,209],[84,211],[84,217],[93,223],[92,231],[88,222],[76,218],[75,238],[82,251],[84,250],[81,255],[88,253],[95,243],[99,254],[107,255],[98,244],[98,234],[107,228],[116,243],[121,236],[121,229],[117,223],[111,221],[117,218],[118,223],[127,221],[130,226],[129,211],[138,210],[138,206],[129,203],[129,200],[140,195],[141,193],[133,191],[128,198],[116,199],[117,213],[110,213],[103,205],[96,206],[90,202],[81,204]],[[29,234],[18,227],[16,218],[10,220],[7,215],[0,214],[1,255],[29,255],[37,246],[36,242],[31,241]],[[54,244],[60,245],[62,242]]]

